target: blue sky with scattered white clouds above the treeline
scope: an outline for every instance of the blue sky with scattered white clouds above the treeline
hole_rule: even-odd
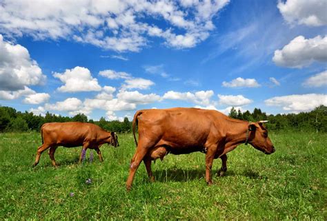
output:
[[[327,1],[0,1],[0,104],[95,120],[137,109],[327,105]]]

